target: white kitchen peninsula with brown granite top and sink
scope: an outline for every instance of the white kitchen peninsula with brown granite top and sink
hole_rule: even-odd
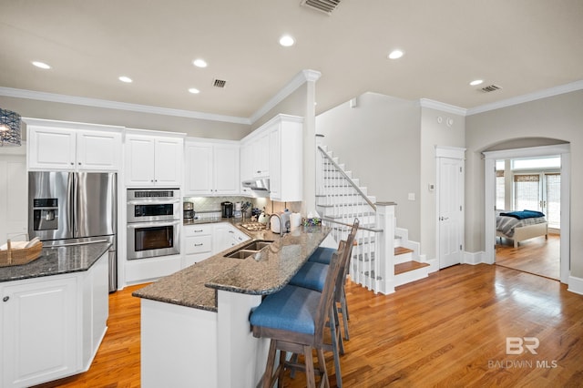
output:
[[[141,298],[141,386],[251,387],[261,379],[269,340],[251,334],[249,314],[261,296],[281,290],[326,238],[330,228],[298,228],[245,259],[194,264],[135,291]]]

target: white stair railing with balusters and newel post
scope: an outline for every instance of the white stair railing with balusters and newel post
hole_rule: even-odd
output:
[[[387,223],[386,203],[377,211],[377,205],[349,177],[343,168],[320,146],[317,158],[317,196],[321,205],[332,209],[322,214],[324,224],[332,227],[336,241],[345,240],[354,218],[361,221],[353,247],[350,278],[374,292],[394,291],[394,209]],[[388,204],[391,206],[394,204]],[[390,237],[390,238],[389,238]]]

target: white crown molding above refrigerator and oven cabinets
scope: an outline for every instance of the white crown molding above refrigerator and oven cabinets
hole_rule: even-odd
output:
[[[173,109],[169,107],[152,107],[148,105],[129,104],[126,102],[109,101],[98,98],[77,97],[59,95],[56,93],[37,92],[34,90],[15,89],[12,87],[0,87],[0,96],[36,99],[41,101],[58,102],[62,104],[81,105],[86,107],[105,107],[108,109],[128,110],[153,115],[199,118],[210,121],[223,121],[235,124],[251,125],[249,118],[215,115],[211,113],[197,112],[194,110]]]

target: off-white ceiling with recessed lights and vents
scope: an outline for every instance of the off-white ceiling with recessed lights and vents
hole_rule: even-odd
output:
[[[0,87],[252,117],[302,69],[322,73],[317,113],[364,92],[473,108],[583,80],[581,0],[300,3],[0,0]]]

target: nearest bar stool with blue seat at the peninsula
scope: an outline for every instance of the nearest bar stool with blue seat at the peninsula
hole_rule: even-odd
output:
[[[312,349],[316,350],[318,369],[322,375],[320,386],[330,386],[323,355],[329,345],[323,342],[323,332],[326,319],[332,311],[335,284],[342,274],[344,262],[348,260],[345,244],[332,256],[322,292],[288,284],[281,291],[268,295],[251,312],[253,336],[271,338],[267,366],[263,374],[263,388],[271,388],[278,379],[281,385],[283,373],[290,366],[304,369],[308,387],[315,388]],[[281,351],[280,361],[273,372],[277,350]],[[285,352],[303,353],[305,365],[286,362]]]

